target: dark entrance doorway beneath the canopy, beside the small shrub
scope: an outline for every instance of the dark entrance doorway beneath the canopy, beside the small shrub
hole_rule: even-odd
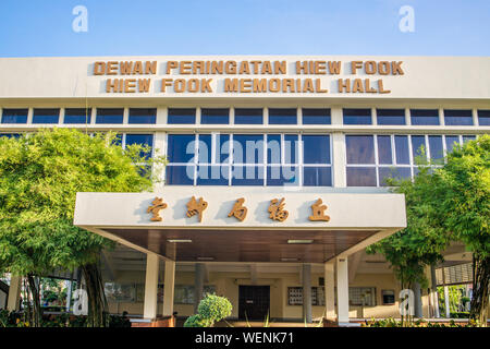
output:
[[[264,321],[270,309],[270,286],[240,286],[238,317]],[[246,315],[246,316],[245,316]]]

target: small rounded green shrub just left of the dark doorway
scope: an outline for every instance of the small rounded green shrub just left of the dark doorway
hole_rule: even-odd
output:
[[[199,302],[197,314],[187,317],[184,327],[211,327],[216,322],[230,316],[232,304],[224,297],[206,294]]]

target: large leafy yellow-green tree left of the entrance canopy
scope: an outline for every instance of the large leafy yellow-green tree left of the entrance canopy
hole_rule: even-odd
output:
[[[150,191],[149,147],[115,144],[115,134],[90,136],[76,130],[39,130],[0,137],[0,272],[27,277],[34,325],[40,323],[34,276],[81,267],[91,326],[107,324],[107,302],[98,257],[112,243],[73,226],[76,192]]]

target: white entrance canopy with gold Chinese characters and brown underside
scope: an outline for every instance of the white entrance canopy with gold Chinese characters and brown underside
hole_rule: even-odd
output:
[[[323,263],[406,227],[406,217],[401,194],[164,186],[78,193],[74,224],[177,262]]]

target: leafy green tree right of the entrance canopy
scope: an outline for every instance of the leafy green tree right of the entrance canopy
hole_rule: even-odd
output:
[[[430,164],[438,165],[438,164]],[[372,245],[412,280],[424,278],[424,265],[436,263],[451,241],[473,252],[470,318],[487,324],[490,280],[490,136],[456,146],[443,165],[419,167],[414,181],[391,181],[404,193],[407,228]]]

